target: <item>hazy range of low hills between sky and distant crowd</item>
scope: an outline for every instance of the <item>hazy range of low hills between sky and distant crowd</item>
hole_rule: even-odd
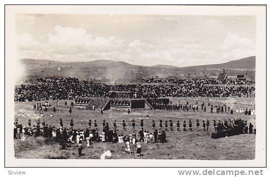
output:
[[[25,68],[23,81],[33,82],[39,77],[76,77],[92,83],[140,83],[142,78],[204,79],[225,68],[227,73],[248,74],[255,78],[255,59],[247,57],[215,65],[175,67],[170,65],[139,66],[123,61],[94,60],[90,62],[60,62],[22,59]]]

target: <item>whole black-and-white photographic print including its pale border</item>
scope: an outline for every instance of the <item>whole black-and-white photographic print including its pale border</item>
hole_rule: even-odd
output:
[[[36,7],[13,15],[14,58],[5,58],[14,67],[5,98],[13,159],[257,159],[256,137],[266,136],[257,15]]]

